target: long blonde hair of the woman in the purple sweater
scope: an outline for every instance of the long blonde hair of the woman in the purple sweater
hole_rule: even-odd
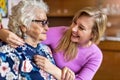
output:
[[[92,34],[94,36],[90,40],[98,44],[100,42],[100,37],[104,34],[106,29],[107,16],[99,9],[85,7],[75,14],[73,21],[76,21],[81,16],[90,16],[94,18],[94,26],[92,28]],[[76,57],[78,53],[78,44],[71,41],[71,28],[65,32],[65,35],[61,38],[55,51],[64,51],[64,58],[67,61]]]

